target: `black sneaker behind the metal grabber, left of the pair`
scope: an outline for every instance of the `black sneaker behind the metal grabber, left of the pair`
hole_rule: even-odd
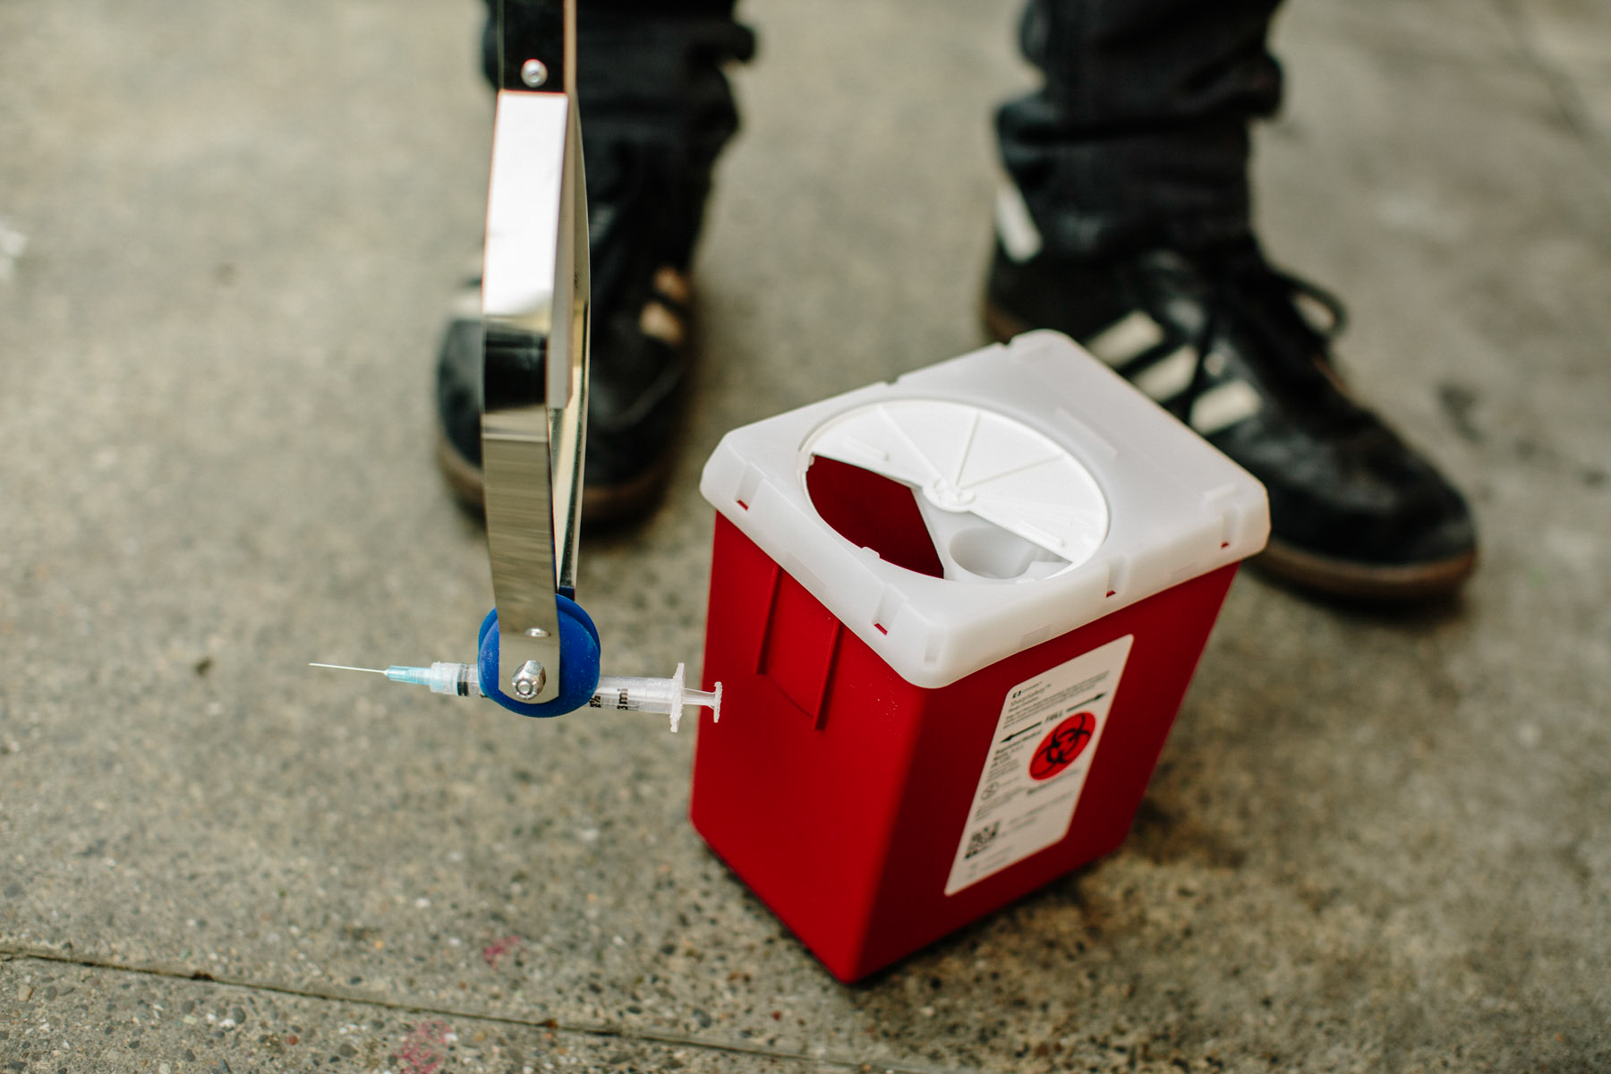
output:
[[[704,190],[623,150],[590,172],[593,343],[582,517],[619,522],[665,491],[690,364],[688,259]],[[591,166],[591,161],[590,161]],[[482,506],[480,280],[454,299],[437,359],[437,461],[454,496]]]

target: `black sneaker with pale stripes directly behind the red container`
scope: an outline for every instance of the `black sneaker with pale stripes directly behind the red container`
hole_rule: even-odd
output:
[[[1252,238],[1102,262],[1015,261],[997,243],[984,319],[999,340],[1065,332],[1263,481],[1271,533],[1253,562],[1268,573],[1342,597],[1421,599],[1476,565],[1466,501],[1337,375],[1342,306],[1273,269]]]

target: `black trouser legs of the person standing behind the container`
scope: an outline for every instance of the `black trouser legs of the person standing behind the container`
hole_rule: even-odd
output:
[[[553,50],[546,0],[504,6],[512,35],[503,84],[527,53]],[[810,0],[801,0],[809,3]],[[1028,0],[1021,45],[1044,87],[996,116],[1002,163],[1046,246],[1102,256],[1147,245],[1200,246],[1249,232],[1249,122],[1281,103],[1265,47],[1279,0]],[[578,92],[588,188],[644,155],[680,179],[691,250],[710,166],[738,129],[722,74],[754,37],[733,0],[580,0]],[[487,74],[499,82],[496,35]]]

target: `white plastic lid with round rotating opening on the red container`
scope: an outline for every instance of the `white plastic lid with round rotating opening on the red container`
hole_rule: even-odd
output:
[[[825,523],[814,456],[918,489],[946,576]],[[1263,485],[1055,332],[733,430],[699,491],[923,688],[1245,559],[1269,531]]]

